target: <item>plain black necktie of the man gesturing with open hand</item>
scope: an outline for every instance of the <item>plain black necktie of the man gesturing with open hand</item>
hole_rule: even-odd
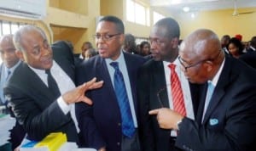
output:
[[[48,75],[47,76],[47,81],[48,81],[48,88],[49,90],[54,94],[55,97],[60,97],[61,92],[59,90],[59,87],[53,78],[53,76],[50,74],[50,70],[45,70],[45,73]]]

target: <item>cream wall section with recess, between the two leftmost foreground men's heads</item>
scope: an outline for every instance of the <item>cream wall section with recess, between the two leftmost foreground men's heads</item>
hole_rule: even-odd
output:
[[[44,22],[55,32],[52,33],[54,41],[71,41],[74,53],[80,53],[83,42],[90,41],[94,44],[92,35],[96,30],[96,17],[100,16],[100,0],[75,2],[50,0]],[[68,7],[71,5],[72,7]]]

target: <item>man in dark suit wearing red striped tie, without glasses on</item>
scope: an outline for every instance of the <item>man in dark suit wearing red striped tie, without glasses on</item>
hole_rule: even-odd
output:
[[[178,150],[174,143],[177,131],[165,130],[158,126],[157,119],[148,115],[148,111],[158,108],[175,109],[172,98],[171,85],[172,70],[169,65],[176,65],[176,73],[181,83],[183,104],[186,116],[195,119],[197,103],[195,102],[195,88],[189,85],[189,81],[180,70],[177,59],[178,41],[180,36],[179,25],[172,18],[159,20],[153,27],[149,41],[151,43],[151,55],[146,64],[139,70],[138,78],[138,102],[139,102],[139,127],[142,136],[142,147],[144,151],[169,151]],[[190,88],[191,90],[190,90]]]

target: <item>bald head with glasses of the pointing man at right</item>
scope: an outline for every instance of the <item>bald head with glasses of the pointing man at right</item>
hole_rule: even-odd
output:
[[[224,60],[218,36],[207,29],[194,31],[187,36],[181,44],[179,55],[184,74],[193,83],[212,81]]]

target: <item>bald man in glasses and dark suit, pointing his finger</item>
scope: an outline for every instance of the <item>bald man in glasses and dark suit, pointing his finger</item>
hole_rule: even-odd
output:
[[[160,127],[178,130],[183,150],[255,150],[256,72],[224,55],[218,36],[194,31],[180,47],[180,62],[189,81],[202,83],[196,120],[171,109],[155,109]]]

